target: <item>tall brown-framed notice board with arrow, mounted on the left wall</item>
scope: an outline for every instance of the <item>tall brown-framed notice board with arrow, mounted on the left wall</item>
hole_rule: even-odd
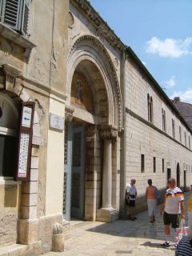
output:
[[[22,103],[22,115],[18,136],[18,161],[15,180],[30,180],[30,159],[33,136],[34,102]]]

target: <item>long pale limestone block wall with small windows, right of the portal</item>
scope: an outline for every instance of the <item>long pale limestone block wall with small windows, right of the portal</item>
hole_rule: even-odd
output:
[[[147,121],[147,94],[153,97],[154,125]],[[162,107],[166,110],[166,133],[162,132]],[[172,137],[171,118],[175,120],[176,139]],[[183,136],[186,126],[170,109],[162,96],[146,78],[146,75],[134,65],[126,63],[126,184],[130,178],[136,178],[138,197],[144,195],[147,179],[152,178],[159,189],[166,187],[167,168],[171,169],[171,177],[176,178],[177,163],[180,166],[180,185],[184,186],[186,170],[186,186],[192,178],[192,153],[184,145]],[[178,126],[182,126],[182,144],[179,142]],[[189,133],[188,133],[189,134]],[[188,140],[187,140],[188,142]],[[141,154],[145,155],[145,171],[141,172]],[[153,169],[153,158],[156,158],[156,173]],[[165,170],[162,172],[162,158]]]

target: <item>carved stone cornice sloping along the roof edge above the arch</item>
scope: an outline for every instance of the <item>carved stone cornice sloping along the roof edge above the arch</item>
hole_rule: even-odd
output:
[[[110,26],[108,26],[98,12],[94,10],[89,1],[70,0],[70,2],[93,24],[98,35],[102,35],[111,46],[118,49],[120,52],[126,50],[126,45],[122,43],[121,39],[114,33],[114,30],[111,30]]]

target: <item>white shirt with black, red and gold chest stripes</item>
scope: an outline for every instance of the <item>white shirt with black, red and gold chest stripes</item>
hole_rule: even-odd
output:
[[[166,190],[166,206],[165,211],[167,214],[179,214],[179,205],[184,200],[182,190],[177,186],[174,189]]]

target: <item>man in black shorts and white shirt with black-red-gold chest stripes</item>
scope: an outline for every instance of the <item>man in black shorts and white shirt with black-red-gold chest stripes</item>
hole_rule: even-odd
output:
[[[164,231],[166,241],[162,246],[170,246],[170,224],[172,228],[176,229],[179,226],[179,214],[181,210],[181,218],[185,218],[184,195],[182,190],[176,186],[174,178],[169,178],[168,190],[166,190],[166,197],[162,202],[160,214],[163,213]]]

